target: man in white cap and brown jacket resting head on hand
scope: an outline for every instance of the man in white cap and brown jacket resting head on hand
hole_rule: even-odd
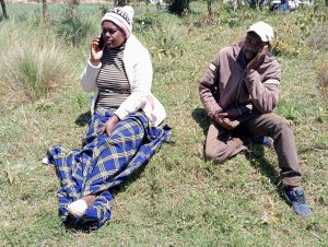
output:
[[[308,216],[293,131],[273,113],[281,70],[269,51],[272,38],[272,27],[257,22],[243,43],[223,48],[210,63],[199,86],[200,99],[212,120],[206,156],[223,163],[246,149],[244,136],[272,138],[286,198],[298,215]]]

